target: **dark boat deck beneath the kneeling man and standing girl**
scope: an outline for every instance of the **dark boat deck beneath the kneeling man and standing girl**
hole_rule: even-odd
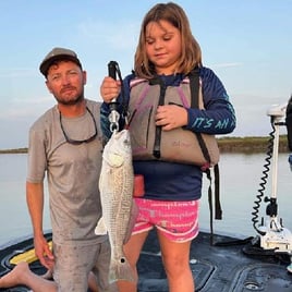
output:
[[[50,238],[50,234],[48,234]],[[287,255],[264,252],[252,244],[256,239],[238,240],[214,235],[216,245],[210,245],[210,235],[200,232],[191,251],[191,267],[196,292],[291,292],[292,275],[287,271],[290,258]],[[10,258],[20,251],[33,247],[26,240],[0,251],[0,277],[13,266]],[[38,261],[31,264],[36,273],[45,270]],[[150,232],[138,263],[139,292],[168,291],[161,264],[159,244],[155,232]],[[24,287],[0,289],[0,291],[29,291]]]

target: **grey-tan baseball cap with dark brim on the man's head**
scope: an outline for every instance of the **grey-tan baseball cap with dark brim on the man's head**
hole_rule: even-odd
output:
[[[47,77],[50,65],[58,60],[70,60],[82,68],[81,61],[74,51],[65,48],[53,48],[40,63],[39,71]]]

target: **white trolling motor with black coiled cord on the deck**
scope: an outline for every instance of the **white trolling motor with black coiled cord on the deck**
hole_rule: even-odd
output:
[[[290,99],[291,100],[291,99]],[[280,126],[287,125],[288,131],[290,131],[291,141],[289,142],[289,146],[292,147],[292,106],[291,106],[291,115],[290,122],[288,123],[288,118],[283,121],[283,118],[287,113],[288,105],[281,105],[273,107],[267,111],[267,114],[271,118],[271,125],[273,132],[270,134],[272,139],[270,141],[270,151],[268,151],[268,162],[264,171],[265,177],[261,178],[264,183],[261,183],[261,193],[257,198],[259,200],[255,202],[256,207],[254,207],[255,211],[253,212],[254,218],[254,228],[259,233],[260,238],[260,247],[266,251],[272,251],[275,253],[283,253],[290,256],[290,265],[287,269],[292,272],[292,233],[290,230],[283,227],[282,220],[278,220],[278,204],[277,204],[277,173],[278,173],[278,155],[279,155],[279,132]],[[287,113],[288,117],[288,113]],[[290,147],[290,150],[292,150]],[[266,220],[261,220],[261,223],[257,227],[257,212],[259,207],[259,202],[261,200],[263,191],[265,188],[266,179],[268,177],[267,172],[269,171],[270,159],[272,159],[272,171],[271,171],[271,195],[270,197],[265,197],[265,203],[268,203],[266,207]],[[292,161],[292,155],[289,157],[289,161]],[[290,165],[291,167],[291,165]],[[291,168],[292,170],[292,168]]]

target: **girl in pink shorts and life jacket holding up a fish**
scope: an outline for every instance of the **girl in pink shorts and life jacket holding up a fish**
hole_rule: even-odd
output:
[[[188,106],[171,102],[172,98],[180,99],[181,93],[185,95],[183,98],[191,100],[187,81],[195,68],[199,70],[205,109],[190,108],[190,102]],[[136,142],[143,145],[144,142],[145,146],[132,147],[134,172],[144,177],[145,194],[134,198],[139,214],[132,236],[124,245],[125,255],[136,270],[147,234],[156,228],[169,291],[193,292],[195,285],[188,261],[191,242],[198,233],[202,169],[191,162],[163,159],[159,156],[159,145],[154,149],[154,155],[141,155],[154,135],[147,123],[153,123],[157,133],[174,133],[183,127],[190,133],[215,135],[232,132],[235,115],[220,80],[210,69],[202,65],[199,45],[181,7],[172,2],[159,3],[146,14],[136,48],[134,73],[125,77],[123,89],[130,112],[131,141],[133,145]],[[121,83],[105,77],[100,93],[105,101],[101,126],[109,137],[109,104],[118,98],[118,110],[122,111],[124,107]],[[168,104],[161,102],[163,99]],[[153,119],[149,118],[151,112]],[[120,129],[123,122],[121,118]],[[135,283],[119,281],[118,284],[120,292],[137,291]]]

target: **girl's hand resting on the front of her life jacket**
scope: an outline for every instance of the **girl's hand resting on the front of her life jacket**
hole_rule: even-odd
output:
[[[187,124],[187,111],[185,108],[168,105],[159,106],[156,112],[156,125],[162,126],[163,131],[170,131]]]

